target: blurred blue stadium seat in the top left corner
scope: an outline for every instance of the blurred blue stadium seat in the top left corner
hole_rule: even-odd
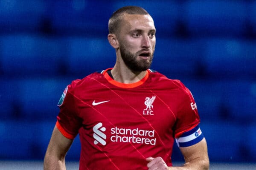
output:
[[[0,32],[36,31],[46,13],[43,0],[1,0]]]

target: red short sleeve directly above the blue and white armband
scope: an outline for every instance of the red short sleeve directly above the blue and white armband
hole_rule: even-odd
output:
[[[183,133],[192,130],[200,122],[198,109],[191,92],[181,82],[180,85],[181,96],[183,99],[181,100],[180,109],[177,113],[177,119],[175,122],[175,138],[178,138]]]

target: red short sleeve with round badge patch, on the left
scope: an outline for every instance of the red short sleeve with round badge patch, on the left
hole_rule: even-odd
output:
[[[56,127],[68,139],[74,139],[81,127],[81,118],[76,107],[78,99],[73,95],[77,81],[79,80],[73,81],[65,88],[58,102],[60,112],[57,116]]]

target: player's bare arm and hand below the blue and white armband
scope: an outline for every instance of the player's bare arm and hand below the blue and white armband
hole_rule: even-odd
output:
[[[185,164],[182,167],[167,167],[161,157],[149,157],[146,159],[149,161],[147,165],[148,170],[153,170],[156,167],[159,170],[209,170],[209,158],[205,139],[189,147],[180,147],[180,151],[185,159]]]

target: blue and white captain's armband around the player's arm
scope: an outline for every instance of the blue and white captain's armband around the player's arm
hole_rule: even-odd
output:
[[[192,130],[183,133],[179,138],[176,138],[178,147],[188,147],[196,144],[204,139],[204,135],[199,126],[196,126]]]

